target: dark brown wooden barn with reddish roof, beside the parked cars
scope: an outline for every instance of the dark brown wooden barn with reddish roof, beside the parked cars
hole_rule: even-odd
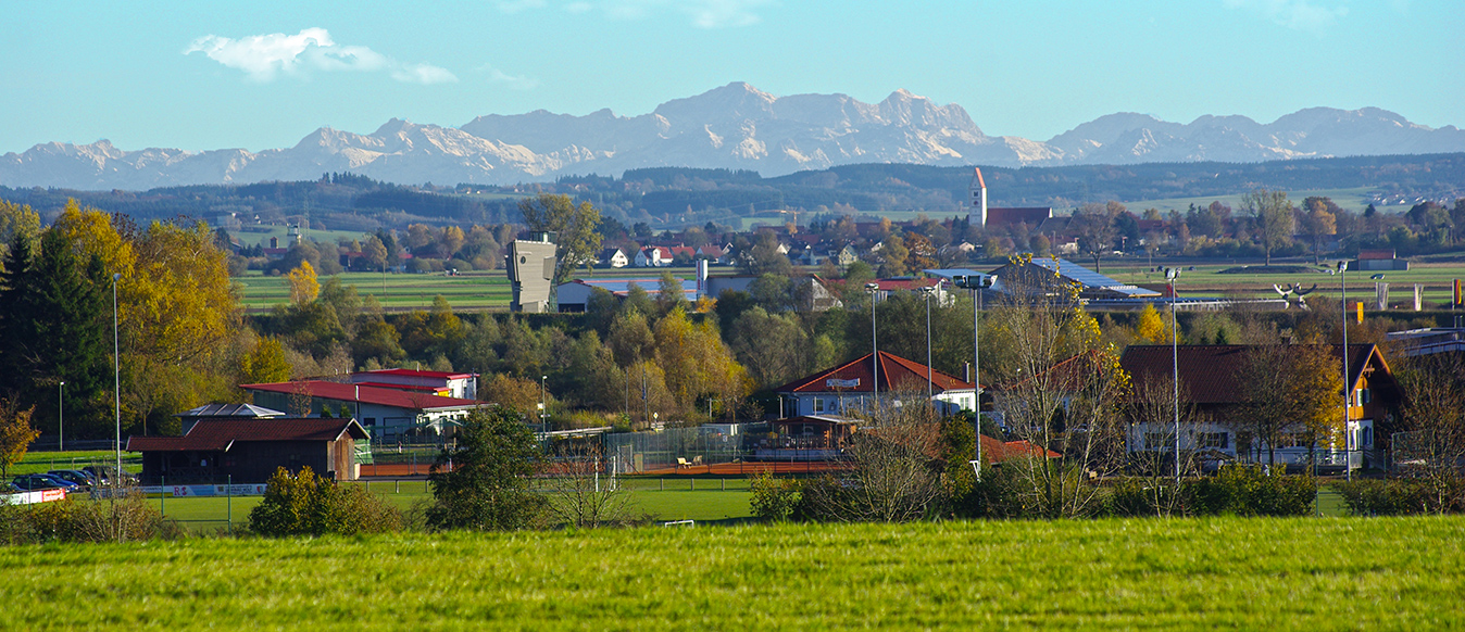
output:
[[[201,418],[183,436],[133,436],[127,452],[142,452],[144,484],[264,483],[277,468],[306,465],[327,478],[356,480],[365,439],[355,420]]]

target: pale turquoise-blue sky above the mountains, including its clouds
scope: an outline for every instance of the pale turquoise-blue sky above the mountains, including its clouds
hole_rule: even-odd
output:
[[[15,0],[0,6],[0,152],[636,116],[735,80],[867,102],[904,88],[1037,140],[1115,111],[1270,123],[1381,107],[1465,126],[1461,32],[1459,0]]]

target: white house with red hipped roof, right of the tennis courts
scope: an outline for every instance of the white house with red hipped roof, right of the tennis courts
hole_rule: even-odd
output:
[[[926,399],[927,377],[930,401],[936,402],[941,414],[976,408],[976,389],[971,382],[939,370],[927,373],[926,364],[885,351],[879,354],[879,389],[876,389],[876,366],[872,357],[873,354],[866,354],[774,389],[782,401],[782,417],[864,411],[876,404],[876,396],[882,407],[920,404]]]

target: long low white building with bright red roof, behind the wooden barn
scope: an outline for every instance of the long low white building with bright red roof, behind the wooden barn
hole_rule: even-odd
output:
[[[409,434],[451,432],[454,421],[479,407],[491,405],[478,399],[435,395],[426,391],[365,386],[341,382],[297,380],[240,385],[256,405],[318,415],[324,407],[338,415],[344,407],[375,440],[397,440]],[[309,399],[309,411],[296,410],[293,402]]]

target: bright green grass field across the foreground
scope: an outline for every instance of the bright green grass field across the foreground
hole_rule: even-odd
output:
[[[0,549],[13,629],[1459,629],[1465,516]]]

